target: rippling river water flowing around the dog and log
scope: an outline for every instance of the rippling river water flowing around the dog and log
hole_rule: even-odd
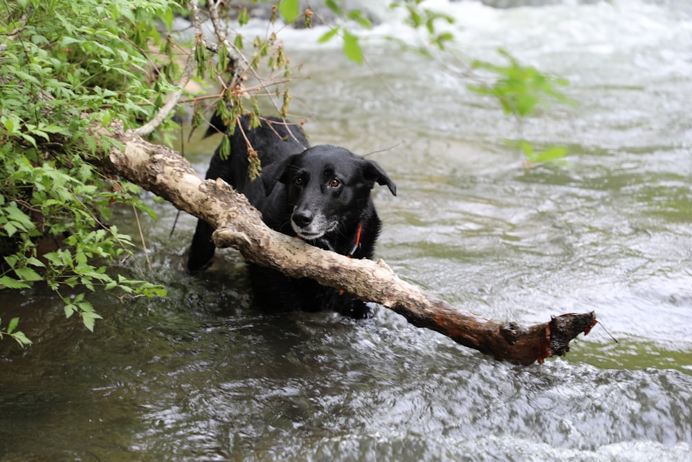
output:
[[[403,35],[396,21],[365,38],[366,66],[314,44],[324,30],[286,31],[311,75],[293,112],[311,116],[311,143],[383,150],[399,195],[375,191],[378,256],[402,278],[523,324],[595,310],[619,344],[597,326],[520,367],[384,308],[266,314],[234,251],[185,274],[195,220],[170,236],[176,211],[152,201],[144,272],[165,300],[93,294],[91,334],[51,292],[0,293],[3,321],[21,316],[35,342],[0,343],[1,460],[692,460],[692,7],[435,4],[457,17],[460,53],[502,46],[570,80],[579,107],[522,128],[566,145],[566,163],[524,166],[502,142],[516,125],[450,61],[376,39]],[[185,145],[199,172],[218,141]],[[131,211],[113,222],[138,233]]]

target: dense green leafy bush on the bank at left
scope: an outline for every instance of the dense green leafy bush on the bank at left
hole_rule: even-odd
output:
[[[156,111],[161,93],[174,89],[167,80],[174,64],[159,60],[152,46],[160,42],[155,19],[170,24],[175,3],[22,0],[3,6],[0,288],[42,281],[58,293],[118,287],[161,296],[161,287],[107,273],[115,258],[132,255],[129,236],[107,224],[111,206],[153,212],[138,199],[138,187],[98,173],[98,153],[110,145],[87,129],[116,117],[136,127]],[[92,330],[100,316],[91,304],[65,300],[66,313],[80,314]],[[30,343],[14,328],[10,322],[4,333]]]

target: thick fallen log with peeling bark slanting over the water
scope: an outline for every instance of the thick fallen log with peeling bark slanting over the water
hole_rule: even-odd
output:
[[[238,249],[244,258],[294,278],[307,277],[380,303],[415,326],[441,332],[459,344],[518,364],[564,355],[579,332],[594,326],[594,312],[563,314],[535,326],[502,323],[456,308],[402,281],[383,260],[357,260],[307,245],[268,228],[262,216],[222,180],[203,180],[177,152],[147,143],[133,131],[102,130],[125,146],[111,148],[104,170],[124,177],[217,227],[217,247]]]

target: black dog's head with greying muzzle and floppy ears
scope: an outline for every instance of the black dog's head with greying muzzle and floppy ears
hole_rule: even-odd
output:
[[[316,240],[340,226],[354,223],[372,206],[375,183],[397,186],[378,163],[330,145],[313,146],[262,169],[269,195],[275,184],[286,185],[292,207],[291,227],[304,240]]]

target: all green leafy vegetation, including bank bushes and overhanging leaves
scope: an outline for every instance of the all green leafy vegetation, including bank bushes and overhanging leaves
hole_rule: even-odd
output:
[[[420,3],[394,1],[392,8],[405,11],[403,21],[425,37],[419,45],[404,45],[435,59],[437,53],[447,53],[454,40],[445,28],[452,19]],[[270,5],[272,23],[309,27],[321,21],[318,13],[301,10],[298,0]],[[210,1],[202,8],[195,0],[185,5],[169,0],[3,3],[3,290],[46,284],[64,301],[66,316],[79,317],[89,330],[100,319],[98,307],[89,302],[90,292],[165,296],[165,287],[147,282],[146,262],[136,262],[139,276],[134,278],[109,269],[113,262],[134,258],[133,238],[111,220],[113,206],[154,213],[140,199],[140,186],[107,167],[108,154],[125,150],[125,145],[117,136],[101,134],[117,125],[148,141],[170,143],[179,129],[175,120],[180,120],[176,116],[181,116],[177,108],[182,100],[192,108],[195,127],[206,127],[212,116],[228,124],[246,112],[259,120],[260,100],[277,114],[290,116],[289,88],[298,66],[276,33],[245,37],[236,32],[251,19],[251,6]],[[336,21],[320,42],[341,39],[345,55],[362,63],[365,55],[356,30],[371,27],[370,19],[331,0],[325,1],[325,11]],[[183,13],[190,17],[192,33],[176,34],[174,19]],[[202,21],[212,24],[213,37],[203,33],[207,29]],[[506,52],[500,55],[508,65],[471,60],[464,77],[473,91],[498,100],[504,114],[521,121],[549,100],[569,102],[558,90],[566,82],[523,66]],[[187,93],[190,80],[214,82],[220,91]],[[228,148],[226,141],[222,151]],[[538,150],[521,138],[516,145],[531,162],[564,155],[561,148]],[[251,161],[258,175],[261,166]],[[12,318],[0,336],[29,344],[18,323]]]

